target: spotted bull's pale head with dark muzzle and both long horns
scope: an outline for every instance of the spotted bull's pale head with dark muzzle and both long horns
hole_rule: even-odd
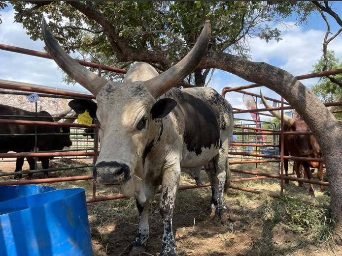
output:
[[[190,74],[204,56],[210,22],[205,22],[193,49],[176,65],[158,74],[149,64],[135,64],[123,83],[108,82],[69,57],[44,20],[42,33],[56,63],[96,96],[101,152],[94,176],[106,185],[124,185],[142,168],[144,150],[158,125],[154,119],[165,117],[176,106],[172,99],[158,98]]]

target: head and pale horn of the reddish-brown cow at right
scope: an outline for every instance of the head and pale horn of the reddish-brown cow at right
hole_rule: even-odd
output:
[[[271,105],[266,101],[263,94],[260,90],[261,100],[264,103],[267,109],[272,108]],[[270,113],[281,120],[281,113],[279,111],[272,111],[269,110]],[[296,120],[286,114],[283,115],[284,123],[289,127],[291,131],[297,132],[310,132],[308,125],[303,120]],[[309,156],[311,157],[320,157],[320,156],[313,156],[317,150],[320,151],[319,144],[317,140],[314,138],[313,135],[287,135],[288,137],[292,137],[295,145],[297,147],[298,152],[302,156]]]

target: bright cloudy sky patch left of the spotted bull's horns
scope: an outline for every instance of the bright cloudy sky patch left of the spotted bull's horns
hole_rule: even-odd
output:
[[[19,23],[14,23],[14,10],[1,12],[0,43],[44,52],[41,40],[33,41]],[[62,82],[63,72],[51,59],[0,50],[0,79],[54,88],[86,92],[81,85]]]

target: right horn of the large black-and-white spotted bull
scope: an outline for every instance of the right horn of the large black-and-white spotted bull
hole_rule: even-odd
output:
[[[200,37],[191,51],[176,65],[160,75],[144,82],[146,88],[155,98],[158,98],[174,85],[177,85],[185,76],[190,74],[205,55],[210,39],[210,21],[205,21]]]

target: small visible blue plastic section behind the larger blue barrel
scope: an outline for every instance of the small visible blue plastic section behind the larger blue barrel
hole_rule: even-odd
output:
[[[41,185],[15,185],[0,187],[0,202],[21,197],[32,196],[39,193],[56,190],[54,187]]]

